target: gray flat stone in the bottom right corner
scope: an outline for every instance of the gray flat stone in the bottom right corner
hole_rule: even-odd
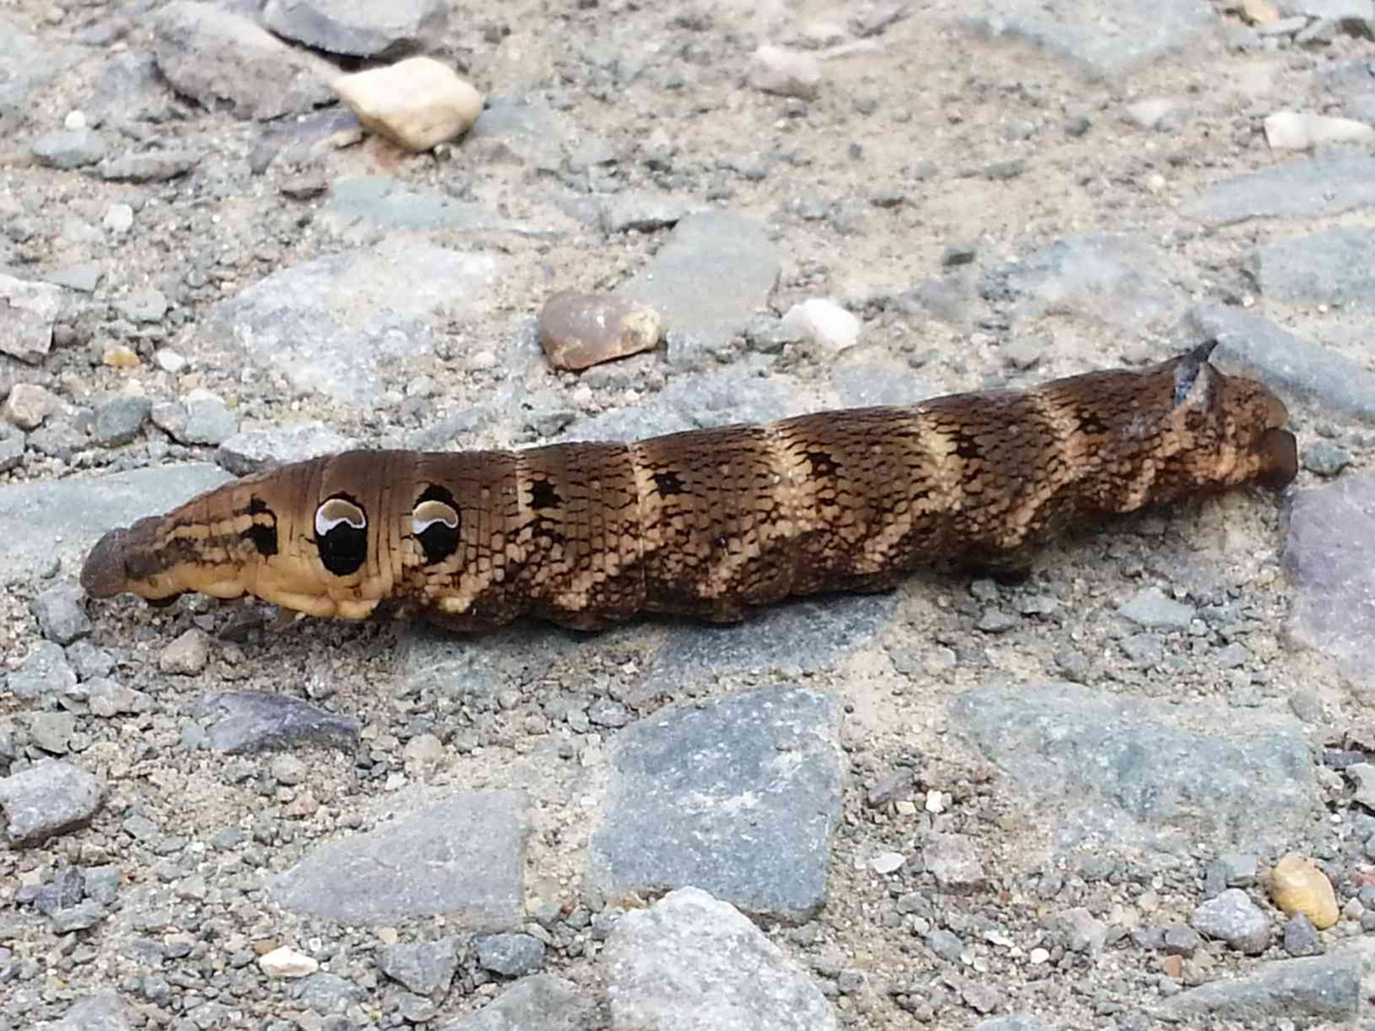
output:
[[[1272,960],[1254,973],[1217,980],[1182,991],[1165,1002],[1172,1020],[1217,1017],[1272,1023],[1317,1017],[1353,1021],[1361,1006],[1361,962],[1356,957],[1321,955]]]

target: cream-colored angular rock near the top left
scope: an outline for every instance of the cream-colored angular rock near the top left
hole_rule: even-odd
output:
[[[363,128],[414,153],[461,136],[483,113],[483,95],[433,58],[340,76],[334,92]]]

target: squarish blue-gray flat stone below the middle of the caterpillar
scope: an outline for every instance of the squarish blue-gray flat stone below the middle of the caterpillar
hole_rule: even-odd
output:
[[[598,884],[698,885],[754,913],[810,916],[840,818],[837,733],[835,701],[793,687],[671,707],[622,730],[591,844]]]

